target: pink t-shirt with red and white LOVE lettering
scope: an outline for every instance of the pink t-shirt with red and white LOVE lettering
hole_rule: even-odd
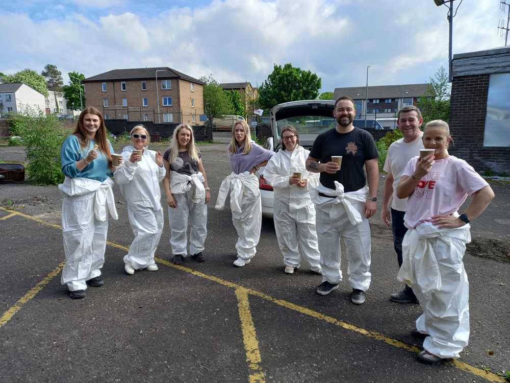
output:
[[[407,162],[402,176],[413,174],[418,157]],[[414,228],[420,223],[430,222],[431,217],[449,215],[481,188],[489,185],[466,161],[449,156],[436,160],[432,170],[416,186],[407,199],[405,226]]]

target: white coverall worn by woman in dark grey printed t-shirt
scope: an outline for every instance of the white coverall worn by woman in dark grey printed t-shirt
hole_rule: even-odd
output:
[[[191,176],[174,172],[170,173],[170,192],[177,206],[168,206],[170,221],[170,245],[173,255],[186,256],[188,243],[188,218],[190,230],[190,254],[203,251],[207,236],[207,205],[205,178],[198,172]]]

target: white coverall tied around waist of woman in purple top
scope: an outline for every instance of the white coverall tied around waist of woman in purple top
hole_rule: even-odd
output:
[[[232,222],[239,236],[236,243],[237,256],[250,259],[257,252],[262,226],[259,180],[249,172],[232,172],[221,182],[216,210],[223,209],[229,191]]]

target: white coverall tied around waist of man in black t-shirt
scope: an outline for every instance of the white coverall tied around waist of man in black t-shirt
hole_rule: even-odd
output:
[[[315,223],[322,281],[335,284],[342,280],[340,238],[343,236],[349,263],[349,284],[353,289],[367,291],[372,279],[370,225],[363,213],[368,186],[348,193],[344,193],[341,183],[335,181],[335,186],[336,190],[331,190],[319,183],[319,186],[310,190],[317,213]],[[336,198],[322,197],[319,193]]]

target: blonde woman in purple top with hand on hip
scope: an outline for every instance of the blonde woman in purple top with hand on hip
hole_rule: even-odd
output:
[[[273,155],[273,152],[251,140],[250,128],[246,121],[234,125],[232,142],[228,146],[232,174],[221,182],[215,206],[217,210],[223,209],[230,192],[232,222],[239,236],[234,266],[243,267],[249,264],[257,252],[262,225],[262,205],[256,173]]]

